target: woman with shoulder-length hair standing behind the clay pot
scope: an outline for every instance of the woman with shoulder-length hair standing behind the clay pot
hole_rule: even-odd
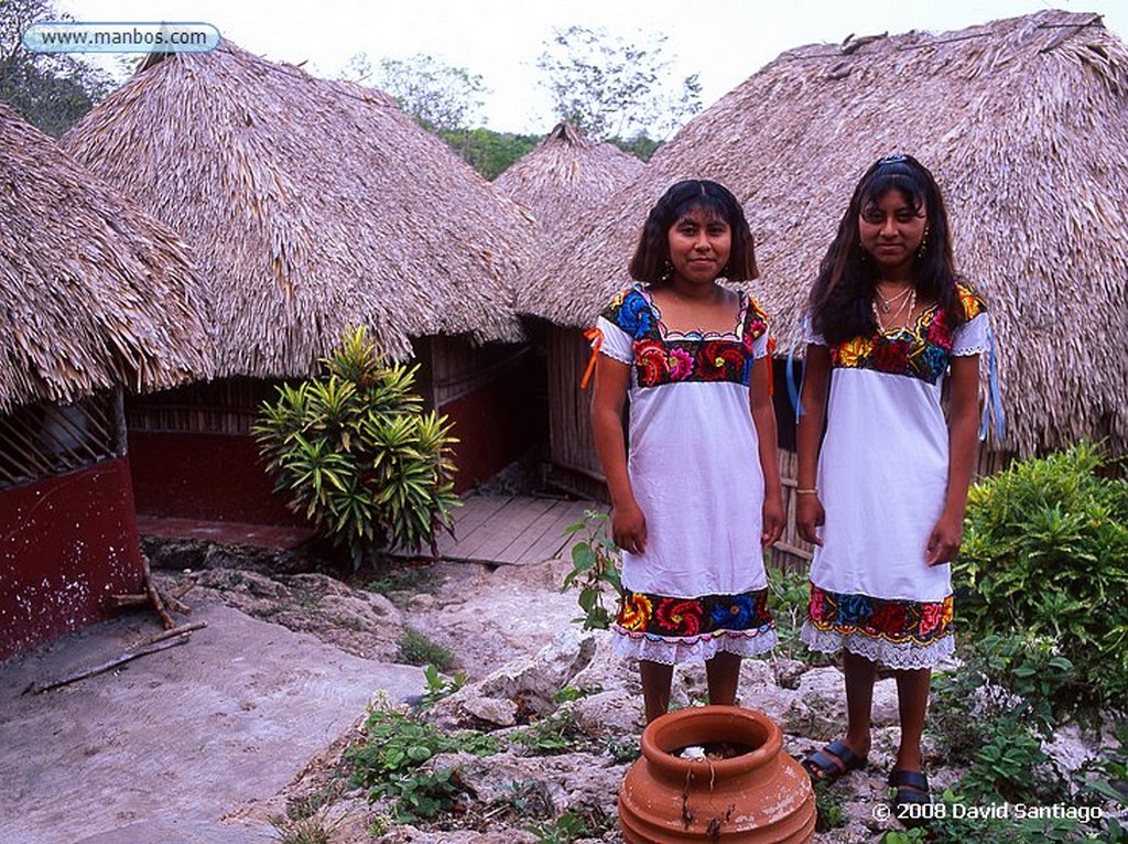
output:
[[[638,660],[652,721],[676,663],[704,661],[710,702],[731,705],[741,657],[775,644],[761,548],[783,498],[767,319],[721,283],[757,275],[740,203],[715,182],[673,185],[629,271],[599,317],[591,423],[623,551],[613,647]]]

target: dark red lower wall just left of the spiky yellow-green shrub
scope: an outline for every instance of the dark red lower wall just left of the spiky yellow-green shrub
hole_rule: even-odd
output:
[[[130,431],[138,512],[202,521],[305,525],[258,461],[249,436]]]

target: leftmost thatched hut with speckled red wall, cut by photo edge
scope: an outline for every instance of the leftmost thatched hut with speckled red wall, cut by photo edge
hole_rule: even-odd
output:
[[[122,390],[210,373],[165,226],[0,103],[0,659],[135,592]]]

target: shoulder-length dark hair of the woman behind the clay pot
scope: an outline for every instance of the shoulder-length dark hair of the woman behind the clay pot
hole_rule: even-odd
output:
[[[681,216],[695,208],[715,213],[732,231],[732,249],[729,263],[721,271],[730,281],[748,281],[759,276],[756,269],[756,252],[752,248],[752,232],[748,228],[744,210],[737,197],[724,185],[708,179],[688,179],[671,185],[646,214],[638,245],[631,258],[631,278],[647,284],[662,281],[669,270],[670,227]]]

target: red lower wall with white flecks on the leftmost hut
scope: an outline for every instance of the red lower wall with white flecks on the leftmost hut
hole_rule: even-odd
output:
[[[126,458],[0,491],[0,659],[102,621],[142,579]]]

